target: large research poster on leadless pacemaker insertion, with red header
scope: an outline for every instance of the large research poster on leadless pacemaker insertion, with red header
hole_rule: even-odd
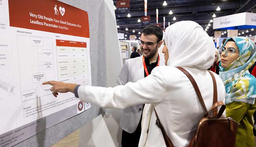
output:
[[[88,13],[56,0],[0,0],[0,147],[90,108],[44,81],[91,85]]]

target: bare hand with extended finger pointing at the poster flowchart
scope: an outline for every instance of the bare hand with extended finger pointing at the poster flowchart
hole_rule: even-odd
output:
[[[59,82],[59,81],[47,81],[43,82],[42,85],[52,85],[53,87],[51,88],[51,91],[53,92],[53,95],[57,97],[58,92],[59,93],[67,93],[67,92],[72,92],[74,93],[74,89],[76,87],[76,84],[69,84],[69,83],[64,83],[64,82]]]

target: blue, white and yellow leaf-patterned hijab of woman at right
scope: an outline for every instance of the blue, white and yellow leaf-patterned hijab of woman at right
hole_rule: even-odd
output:
[[[224,82],[226,89],[225,103],[234,101],[254,104],[256,97],[256,78],[248,71],[256,61],[255,44],[246,37],[231,37],[223,44],[232,39],[239,49],[239,57],[228,67],[223,68],[219,64],[219,76]]]

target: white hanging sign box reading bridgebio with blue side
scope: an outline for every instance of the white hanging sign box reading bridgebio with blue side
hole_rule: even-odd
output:
[[[213,18],[213,29],[230,29],[229,27],[248,27],[256,26],[255,13],[239,13],[223,17]],[[237,28],[233,28],[237,29]],[[238,28],[239,29],[239,28]],[[247,28],[244,28],[247,29]]]

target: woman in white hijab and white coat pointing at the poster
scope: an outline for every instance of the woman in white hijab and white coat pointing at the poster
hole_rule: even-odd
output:
[[[159,120],[175,147],[186,147],[204,114],[195,89],[183,72],[183,67],[196,80],[205,106],[213,102],[213,81],[207,69],[214,61],[214,43],[202,27],[193,21],[181,21],[167,27],[163,53],[167,66],[154,68],[151,75],[138,82],[128,82],[114,88],[79,86],[57,81],[52,85],[58,92],[73,92],[83,102],[104,108],[126,108],[145,104],[139,147],[165,147],[161,130],[156,126],[155,107]],[[225,98],[223,81],[214,73],[218,101]]]

